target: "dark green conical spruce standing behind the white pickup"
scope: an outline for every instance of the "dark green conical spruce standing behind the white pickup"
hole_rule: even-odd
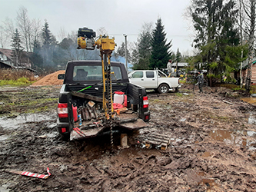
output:
[[[152,36],[150,68],[166,68],[168,60],[171,58],[171,41],[167,43],[161,18],[158,18]]]

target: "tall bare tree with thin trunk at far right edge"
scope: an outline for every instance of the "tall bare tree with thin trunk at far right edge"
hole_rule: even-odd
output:
[[[246,90],[250,90],[251,88],[251,66],[252,66],[252,58],[254,57],[254,33],[255,33],[255,9],[256,9],[256,0],[244,0],[241,1],[244,13],[247,17],[246,22],[244,22],[245,28],[248,30],[244,30],[247,33],[248,45],[249,45],[249,53],[248,53],[248,74],[246,77],[245,88]]]

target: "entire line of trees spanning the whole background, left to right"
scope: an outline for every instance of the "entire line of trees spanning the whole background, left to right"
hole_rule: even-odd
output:
[[[171,51],[165,25],[158,18],[155,27],[151,22],[142,25],[137,41],[128,48],[128,61],[136,70],[166,68],[169,59],[186,60],[188,70],[207,69],[212,85],[222,77],[233,81],[231,73],[241,71],[241,63],[247,59],[245,80],[249,89],[254,58],[255,8],[256,0],[191,0],[186,13],[194,28],[192,46],[197,50],[194,56],[185,58],[179,49],[176,53]],[[28,55],[34,68],[65,66],[67,61],[74,59],[100,59],[98,50],[76,49],[75,31],[68,35],[63,32],[62,41],[56,41],[48,22],[45,20],[42,27],[38,20],[28,18],[24,7],[19,8],[16,22],[16,28],[8,19],[0,26],[0,45],[5,47],[7,35],[12,38],[13,59],[17,63],[20,53]],[[108,35],[108,32],[99,28],[97,34]],[[119,57],[125,57],[125,43],[116,48],[113,57],[117,61]]]

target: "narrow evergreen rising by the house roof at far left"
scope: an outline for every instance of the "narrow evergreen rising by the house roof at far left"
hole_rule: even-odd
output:
[[[18,66],[22,63],[23,47],[21,41],[21,35],[18,33],[18,29],[15,29],[15,33],[12,36],[12,60],[14,65]]]

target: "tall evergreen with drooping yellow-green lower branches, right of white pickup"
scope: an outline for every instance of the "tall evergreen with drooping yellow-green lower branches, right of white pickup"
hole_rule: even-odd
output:
[[[224,61],[228,56],[227,46],[239,44],[238,10],[233,0],[192,0],[191,3],[190,14],[197,31],[194,47],[200,51],[195,57],[198,60],[193,60],[192,64],[208,70],[211,86],[214,79],[229,74],[228,64],[231,63]]]

